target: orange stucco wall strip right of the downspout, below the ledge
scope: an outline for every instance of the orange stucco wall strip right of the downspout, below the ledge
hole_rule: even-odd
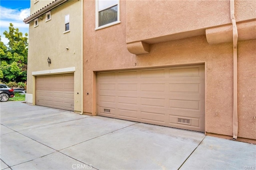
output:
[[[256,40],[238,42],[238,134],[256,139]]]

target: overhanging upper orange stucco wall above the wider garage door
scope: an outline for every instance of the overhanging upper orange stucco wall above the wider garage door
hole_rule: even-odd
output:
[[[235,0],[237,22],[256,18],[256,1]],[[127,0],[126,42],[163,42],[230,24],[230,0]],[[175,35],[175,36],[174,36]]]

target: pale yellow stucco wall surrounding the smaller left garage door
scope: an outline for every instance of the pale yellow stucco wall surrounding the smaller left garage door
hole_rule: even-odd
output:
[[[81,111],[81,28],[82,1],[68,1],[51,10],[51,20],[45,22],[45,14],[29,26],[27,93],[34,89],[33,71],[45,71],[75,67],[74,109]],[[38,2],[39,3],[39,2]],[[65,31],[65,15],[70,14],[70,32]],[[67,50],[66,47],[69,49]],[[47,58],[52,63],[48,66]],[[79,94],[77,94],[79,93]],[[35,97],[33,95],[33,97]]]

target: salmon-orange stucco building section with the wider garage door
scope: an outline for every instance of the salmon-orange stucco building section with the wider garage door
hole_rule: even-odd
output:
[[[84,1],[85,113],[255,143],[256,1],[116,5],[99,26],[103,2]]]

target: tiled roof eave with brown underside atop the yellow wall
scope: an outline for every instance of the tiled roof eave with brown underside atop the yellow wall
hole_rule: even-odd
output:
[[[52,3],[48,4],[47,6],[44,6],[42,9],[38,10],[34,14],[30,15],[28,18],[24,19],[23,22],[25,24],[28,24],[30,21],[38,18],[42,14],[52,10],[53,8],[56,8],[57,6],[63,4],[64,2],[67,2],[68,0],[54,0]]]

